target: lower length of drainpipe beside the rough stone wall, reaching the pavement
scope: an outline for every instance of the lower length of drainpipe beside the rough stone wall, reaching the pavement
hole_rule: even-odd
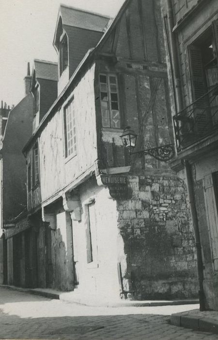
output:
[[[204,292],[203,292],[203,261],[202,261],[202,249],[201,249],[201,240],[199,233],[199,225],[198,225],[198,216],[195,205],[194,198],[194,189],[193,189],[193,179],[192,179],[192,171],[191,166],[187,160],[185,160],[185,170],[186,170],[186,178],[187,178],[187,191],[188,191],[188,199],[191,211],[191,219],[195,234],[195,246],[197,250],[197,267],[198,267],[198,280],[199,280],[199,302],[200,302],[200,310],[205,310],[205,300],[204,300]]]

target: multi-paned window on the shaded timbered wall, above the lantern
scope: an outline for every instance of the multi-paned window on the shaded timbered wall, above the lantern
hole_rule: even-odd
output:
[[[102,126],[119,129],[121,123],[117,77],[113,74],[100,74],[99,82]]]

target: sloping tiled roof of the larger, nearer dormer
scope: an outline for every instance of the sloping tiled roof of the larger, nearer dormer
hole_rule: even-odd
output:
[[[86,30],[103,32],[110,17],[102,16],[78,8],[61,5],[60,12],[63,25],[74,26]]]

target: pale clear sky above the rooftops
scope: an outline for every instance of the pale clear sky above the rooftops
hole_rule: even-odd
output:
[[[60,3],[114,17],[124,0],[0,0],[0,101],[24,97],[27,63],[57,62],[52,45]]]

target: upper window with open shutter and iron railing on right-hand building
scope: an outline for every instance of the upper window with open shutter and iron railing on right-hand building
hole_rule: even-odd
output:
[[[195,133],[210,130],[218,103],[210,105],[207,92],[218,82],[218,20],[188,48]]]

